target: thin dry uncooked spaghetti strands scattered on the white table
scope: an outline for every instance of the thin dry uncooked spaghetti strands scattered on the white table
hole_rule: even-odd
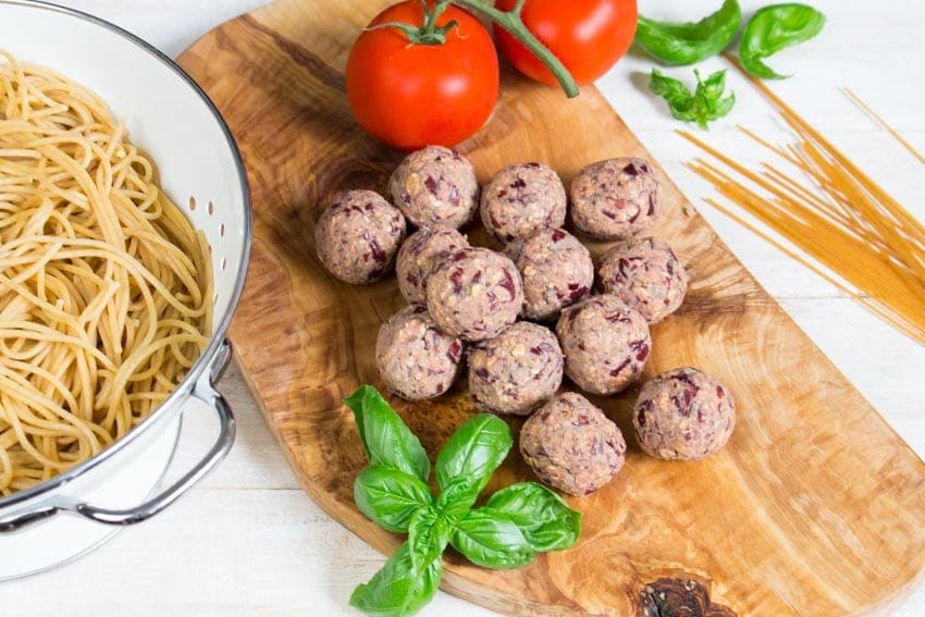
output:
[[[716,199],[706,201],[925,345],[925,225],[766,85],[758,79],[752,83],[799,141],[779,147],[739,129],[812,183],[807,186],[767,163],[761,171],[752,171],[690,133],[680,132],[716,161],[696,159],[688,166],[767,227],[749,222]],[[853,98],[910,152],[921,157],[873,110]],[[767,229],[792,243],[795,250],[775,239]]]

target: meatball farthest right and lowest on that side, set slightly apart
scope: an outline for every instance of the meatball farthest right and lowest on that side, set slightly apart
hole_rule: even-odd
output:
[[[736,403],[718,381],[682,367],[642,386],[632,425],[645,453],[667,460],[696,460],[729,441],[736,428]]]

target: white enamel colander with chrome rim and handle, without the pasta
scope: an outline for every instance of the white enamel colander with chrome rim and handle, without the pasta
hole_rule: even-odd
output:
[[[244,285],[250,202],[237,148],[221,115],[180,67],[116,26],[81,12],[0,0],[0,47],[24,62],[66,74],[98,92],[130,137],[157,163],[164,192],[212,248],[214,332],[170,397],[98,456],[34,489],[0,499],[0,580],[40,571],[145,520],[218,465],[234,440],[234,418],[214,388],[229,358],[224,341]],[[184,414],[211,410],[212,448],[178,481],[158,489]]]

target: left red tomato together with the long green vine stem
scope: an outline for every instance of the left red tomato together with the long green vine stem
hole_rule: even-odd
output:
[[[523,0],[510,4],[502,10],[489,0],[405,0],[380,13],[347,59],[347,99],[360,126],[412,150],[455,146],[485,123],[497,102],[497,52],[468,11],[515,36],[569,97],[577,96],[568,70],[525,26]]]

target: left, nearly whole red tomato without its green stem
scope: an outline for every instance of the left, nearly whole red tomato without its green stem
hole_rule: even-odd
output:
[[[384,22],[423,23],[419,0],[394,4]],[[347,60],[347,99],[357,122],[390,146],[414,150],[455,146],[491,115],[498,95],[498,61],[491,34],[470,13],[448,7],[437,26],[456,20],[443,45],[411,45],[394,27],[366,29]]]

